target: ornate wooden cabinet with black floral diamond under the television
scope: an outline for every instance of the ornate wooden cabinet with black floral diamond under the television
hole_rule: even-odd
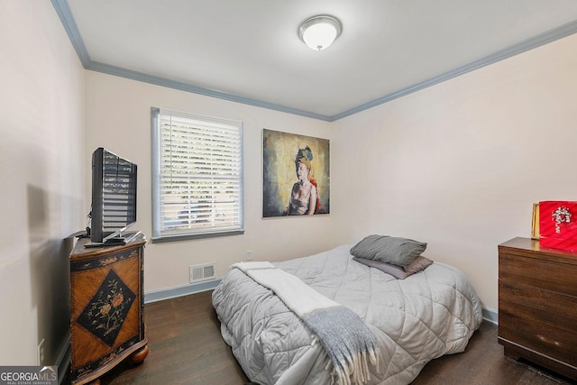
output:
[[[144,237],[112,247],[70,253],[70,371],[72,384],[97,380],[125,358],[148,355],[144,335]]]

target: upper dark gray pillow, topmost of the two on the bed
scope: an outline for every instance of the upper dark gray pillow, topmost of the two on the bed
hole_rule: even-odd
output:
[[[358,258],[392,263],[407,270],[425,252],[426,243],[389,235],[369,235],[351,249]]]

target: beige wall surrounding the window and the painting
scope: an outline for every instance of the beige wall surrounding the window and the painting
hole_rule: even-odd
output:
[[[87,71],[87,154],[99,146],[138,164],[138,222],[151,237],[151,106],[243,122],[243,235],[176,243],[149,243],[145,291],[189,282],[188,266],[216,262],[216,275],[244,261],[281,261],[333,247],[332,215],[262,219],[262,129],[332,139],[331,124]],[[89,187],[87,181],[87,188]],[[88,189],[87,189],[88,190]],[[87,210],[89,207],[87,207]]]

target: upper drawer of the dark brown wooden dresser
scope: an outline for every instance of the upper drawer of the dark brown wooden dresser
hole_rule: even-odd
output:
[[[499,281],[517,282],[577,297],[575,278],[577,265],[574,264],[499,254]]]

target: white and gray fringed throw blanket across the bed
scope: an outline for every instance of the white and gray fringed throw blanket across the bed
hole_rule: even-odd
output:
[[[311,289],[270,262],[235,263],[231,268],[271,289],[316,335],[333,363],[333,380],[343,385],[370,380],[371,362],[379,371],[379,347],[371,329],[353,310]]]

